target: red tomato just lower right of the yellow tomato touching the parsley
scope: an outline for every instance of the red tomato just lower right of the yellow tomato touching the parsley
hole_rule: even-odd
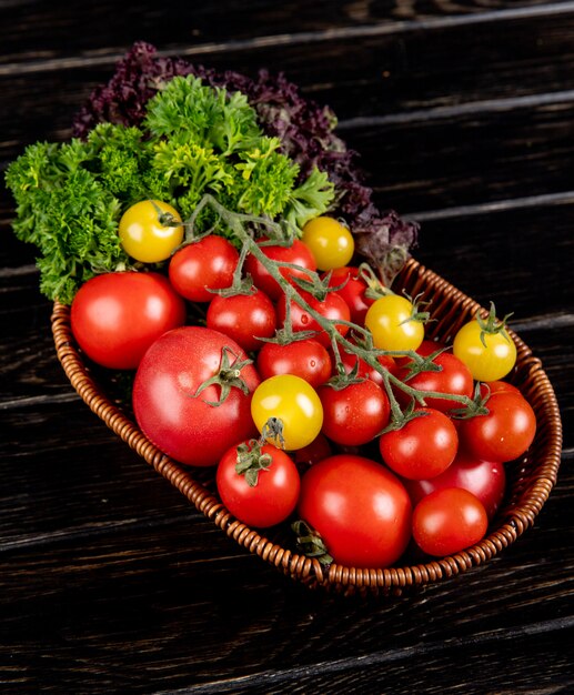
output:
[[[224,290],[233,283],[236,249],[223,236],[210,234],[177,251],[170,261],[174,290],[192,302],[211,302],[210,290]]]

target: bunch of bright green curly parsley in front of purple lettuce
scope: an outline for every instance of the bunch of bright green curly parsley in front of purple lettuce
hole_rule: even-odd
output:
[[[85,140],[27,148],[6,175],[17,203],[13,230],[40,251],[43,294],[66,304],[94,274],[135,266],[118,224],[140,200],[161,200],[188,219],[209,193],[299,234],[329,210],[334,187],[318,169],[298,183],[299,165],[280,147],[241,92],[175,77],[148,102],[140,128],[100,123]],[[195,223],[199,232],[226,233],[208,209]]]

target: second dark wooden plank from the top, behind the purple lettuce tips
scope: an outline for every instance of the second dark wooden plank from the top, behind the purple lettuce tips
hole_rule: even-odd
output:
[[[545,92],[567,94],[574,88],[574,6],[553,7],[561,12],[536,18],[501,14],[492,23],[445,22],[399,34],[332,38],[325,31],[319,34],[312,61],[300,44],[278,50],[272,41],[250,51],[222,43],[190,58],[250,75],[262,67],[284,71],[308,97],[331,104],[343,121]],[[118,56],[130,46],[124,39]],[[461,47],[464,61],[459,59]],[[184,52],[185,47],[179,48]],[[73,113],[113,71],[113,61],[98,64],[88,58],[71,67],[38,63],[42,66],[46,72],[28,73],[18,63],[3,71],[0,66],[2,93],[11,104],[0,117],[0,161],[13,159],[28,142],[67,137]]]

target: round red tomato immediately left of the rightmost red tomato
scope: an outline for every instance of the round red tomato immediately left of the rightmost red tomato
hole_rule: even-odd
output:
[[[432,407],[419,412],[426,414],[379,439],[383,461],[409,480],[440,475],[454,461],[459,447],[456,429],[444,413]]]

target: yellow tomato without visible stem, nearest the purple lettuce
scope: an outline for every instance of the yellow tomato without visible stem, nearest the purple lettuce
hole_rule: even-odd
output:
[[[303,226],[301,241],[311,249],[319,270],[334,270],[353,258],[355,242],[351,232],[333,218],[320,216]]]

